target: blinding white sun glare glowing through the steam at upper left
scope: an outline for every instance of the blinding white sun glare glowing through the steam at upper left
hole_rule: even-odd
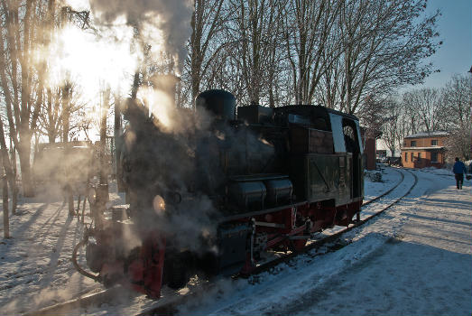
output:
[[[129,91],[138,61],[130,52],[132,30],[121,24],[108,32],[114,34],[113,38],[97,37],[74,26],[61,30],[50,47],[49,84],[53,87],[65,79],[73,80],[86,99],[97,98],[104,86],[113,91]]]

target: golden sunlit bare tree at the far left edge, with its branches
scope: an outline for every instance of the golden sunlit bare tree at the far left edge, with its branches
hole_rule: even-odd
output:
[[[88,14],[76,13],[67,7],[59,10],[55,0],[1,0],[0,21],[0,88],[4,92],[9,135],[19,153],[23,193],[33,195],[31,172],[32,135],[37,130],[44,104],[51,34],[61,21],[76,23]],[[85,23],[83,23],[85,25]],[[85,26],[84,26],[85,27]]]

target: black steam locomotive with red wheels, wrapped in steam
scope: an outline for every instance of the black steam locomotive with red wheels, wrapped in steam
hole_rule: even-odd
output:
[[[184,111],[183,111],[184,112]],[[208,90],[183,131],[128,102],[122,181],[129,208],[99,211],[88,268],[106,286],[157,298],[191,275],[250,274],[267,252],[358,219],[363,147],[356,116],[319,106],[237,108]]]

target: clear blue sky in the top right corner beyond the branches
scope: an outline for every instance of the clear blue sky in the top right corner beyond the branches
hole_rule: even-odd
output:
[[[430,60],[439,73],[425,80],[425,87],[440,88],[454,75],[472,67],[472,0],[430,0],[427,12],[440,9],[440,50]]]

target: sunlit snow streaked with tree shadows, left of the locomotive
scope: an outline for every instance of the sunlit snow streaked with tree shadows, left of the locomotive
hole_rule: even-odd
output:
[[[12,238],[0,241],[0,306],[4,312],[32,311],[103,290],[99,283],[79,274],[70,261],[73,247],[82,238],[82,224],[69,217],[68,204],[57,188],[40,191],[36,198],[20,201],[17,215],[10,215]],[[121,199],[111,194],[110,200]],[[86,217],[86,224],[88,221]],[[84,256],[81,259],[84,265]]]

